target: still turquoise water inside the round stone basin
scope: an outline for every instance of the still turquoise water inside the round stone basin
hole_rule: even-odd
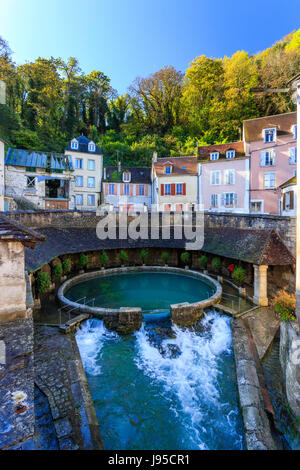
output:
[[[149,271],[88,279],[72,286],[65,296],[73,301],[82,297],[95,299],[97,307],[141,307],[153,311],[169,309],[170,304],[197,302],[214,292],[213,284],[204,279]]]

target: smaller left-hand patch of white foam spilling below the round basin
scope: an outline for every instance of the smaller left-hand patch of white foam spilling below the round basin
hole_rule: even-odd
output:
[[[117,340],[118,334],[105,328],[101,320],[87,320],[76,333],[83,367],[90,375],[100,375],[101,349],[107,340]]]

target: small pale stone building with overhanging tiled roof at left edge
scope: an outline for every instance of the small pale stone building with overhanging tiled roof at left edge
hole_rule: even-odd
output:
[[[25,318],[25,247],[34,248],[43,235],[0,215],[0,323]]]

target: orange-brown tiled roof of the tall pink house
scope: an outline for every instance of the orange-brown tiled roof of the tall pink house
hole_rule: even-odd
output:
[[[275,116],[265,116],[262,118],[248,119],[244,121],[244,138],[246,142],[262,139],[263,129],[276,127],[278,135],[290,135],[291,127],[297,123],[297,113],[276,114]]]

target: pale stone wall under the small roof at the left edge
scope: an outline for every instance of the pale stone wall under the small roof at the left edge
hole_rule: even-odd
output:
[[[24,259],[22,243],[0,241],[0,322],[26,317]]]

